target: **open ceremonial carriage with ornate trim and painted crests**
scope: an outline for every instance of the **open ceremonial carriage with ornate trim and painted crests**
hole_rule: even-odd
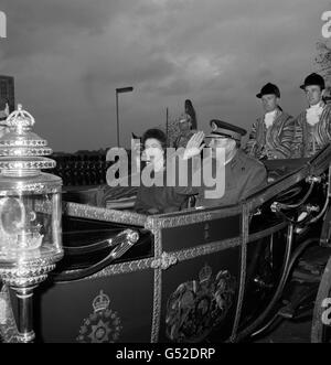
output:
[[[36,340],[238,342],[286,316],[279,299],[295,264],[310,247],[329,257],[330,162],[331,146],[311,160],[269,161],[273,182],[223,208],[145,216],[96,206],[97,190],[85,204],[64,202],[65,256],[35,290]],[[287,305],[314,302],[312,342],[329,341],[330,270],[331,259],[311,293]],[[14,296],[2,296],[17,315]],[[4,341],[14,339],[10,318]]]

